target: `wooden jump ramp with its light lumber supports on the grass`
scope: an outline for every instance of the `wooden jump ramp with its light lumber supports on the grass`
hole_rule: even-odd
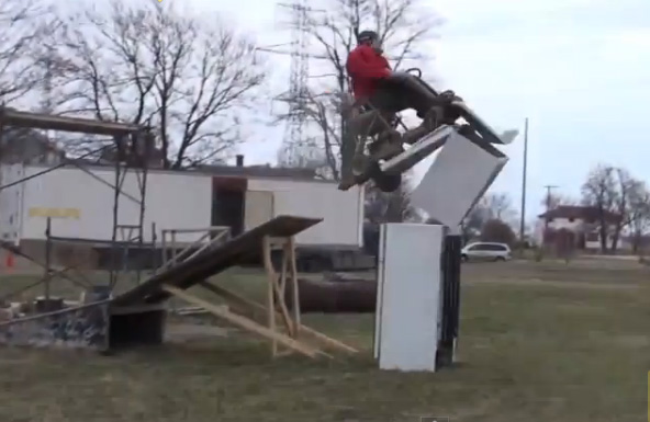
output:
[[[357,351],[316,330],[305,327],[300,318],[298,301],[298,271],[295,269],[294,236],[321,223],[321,219],[279,216],[243,235],[180,262],[113,299],[116,306],[156,304],[171,296],[199,306],[215,317],[264,337],[271,342],[273,356],[280,346],[309,357],[332,357],[326,351],[356,353]],[[281,258],[281,269],[274,267],[271,253]],[[260,256],[267,272],[267,303],[260,304],[206,280],[236,266],[250,256]],[[227,306],[217,306],[204,297],[186,292],[200,285],[220,296]],[[291,309],[284,303],[287,288],[293,295]]]

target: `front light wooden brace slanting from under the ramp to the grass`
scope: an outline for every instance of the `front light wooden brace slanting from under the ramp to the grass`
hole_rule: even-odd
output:
[[[302,343],[291,339],[289,335],[284,335],[284,334],[278,333],[273,330],[270,330],[270,329],[268,329],[268,328],[266,328],[253,320],[249,320],[249,319],[242,317],[237,313],[231,312],[227,309],[223,309],[223,308],[221,308],[214,304],[211,304],[206,300],[203,300],[199,297],[190,295],[186,290],[181,290],[180,288],[168,286],[168,285],[164,285],[162,289],[176,297],[179,297],[179,298],[190,303],[190,304],[202,307],[203,309],[213,313],[215,317],[222,318],[222,319],[228,321],[229,323],[232,323],[233,326],[239,327],[244,330],[247,330],[247,331],[250,331],[250,332],[256,333],[258,335],[261,335],[264,338],[267,338],[274,343],[282,344],[283,346],[291,349],[295,352],[299,352],[305,356],[313,358],[320,354],[316,349],[310,347],[306,344],[302,344]]]

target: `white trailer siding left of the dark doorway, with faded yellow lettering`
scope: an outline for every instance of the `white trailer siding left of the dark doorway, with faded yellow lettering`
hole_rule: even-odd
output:
[[[25,175],[35,174],[43,169],[26,167]],[[93,169],[92,172],[101,180],[115,184],[113,169]],[[152,240],[152,223],[156,224],[158,239],[162,229],[209,227],[211,189],[211,179],[203,175],[149,172],[143,228],[145,241]],[[111,186],[79,169],[69,168],[26,181],[22,184],[22,239],[44,239],[44,215],[58,210],[60,216],[53,218],[53,236],[111,240],[114,204],[114,190]],[[119,224],[138,225],[139,204],[134,199],[139,201],[141,194],[135,171],[125,173],[122,192],[124,194],[119,199]],[[179,236],[178,240],[192,241],[200,235],[188,233]]]

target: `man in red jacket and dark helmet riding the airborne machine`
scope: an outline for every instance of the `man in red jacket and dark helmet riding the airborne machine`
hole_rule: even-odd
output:
[[[355,103],[361,105],[362,112],[348,122],[343,139],[341,185],[349,184],[354,174],[361,173],[365,167],[363,142],[357,145],[357,136],[385,135],[378,155],[388,157],[400,152],[404,141],[411,144],[430,132],[429,99],[414,85],[413,77],[393,73],[382,53],[377,33],[363,31],[358,36],[358,46],[348,56],[346,69]],[[424,122],[421,127],[401,135],[390,125],[396,114],[406,109],[415,109]]]

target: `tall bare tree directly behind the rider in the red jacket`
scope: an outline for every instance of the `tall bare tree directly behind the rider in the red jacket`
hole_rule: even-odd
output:
[[[306,121],[314,128],[314,137],[306,148],[320,146],[324,173],[339,179],[340,134],[345,118],[341,99],[348,92],[346,60],[355,48],[357,35],[365,28],[376,31],[384,45],[393,69],[407,62],[429,57],[419,48],[430,39],[441,21],[421,0],[323,0],[324,11],[310,13],[306,33],[316,46],[311,56],[318,60],[318,75],[309,87],[306,99],[288,99],[302,109]],[[300,112],[300,111],[299,111]],[[304,146],[288,145],[300,156]]]

